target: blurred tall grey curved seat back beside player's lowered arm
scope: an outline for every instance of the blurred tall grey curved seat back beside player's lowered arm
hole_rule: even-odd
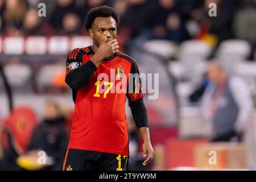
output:
[[[151,84],[152,88],[155,89],[155,94],[156,92],[159,93],[158,98],[156,100],[150,100],[149,95],[152,96],[152,94],[144,94],[145,105],[147,105],[147,107],[151,107],[151,111],[153,111],[152,108],[154,108],[154,112],[160,113],[162,115],[162,121],[159,123],[160,125],[175,125],[177,117],[176,98],[174,94],[175,90],[172,85],[173,80],[168,74],[168,69],[164,64],[162,64],[163,62],[159,60],[159,57],[151,56],[148,53],[134,52],[134,55],[132,56],[135,58],[135,60],[137,60],[139,64],[140,73],[152,73],[152,80],[157,78],[154,73],[158,74],[159,76],[159,80],[154,82],[154,85]],[[143,75],[141,74],[141,76]],[[147,79],[147,81],[150,80]],[[146,86],[150,86],[150,84],[147,83]],[[148,93],[148,89],[143,88],[143,84],[142,90],[147,90]],[[155,123],[157,121],[150,122]]]

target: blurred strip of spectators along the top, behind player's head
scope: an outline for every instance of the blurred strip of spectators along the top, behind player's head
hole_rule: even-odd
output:
[[[46,17],[38,16],[38,4],[46,4]],[[216,3],[217,16],[210,17],[209,3]],[[121,16],[119,36],[141,43],[167,39],[181,43],[187,39],[214,35],[221,40],[256,40],[254,0],[1,0],[0,32],[16,35],[81,35],[88,11],[109,5]]]

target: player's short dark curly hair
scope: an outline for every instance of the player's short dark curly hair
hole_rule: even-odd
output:
[[[94,19],[97,17],[109,17],[112,16],[117,23],[117,27],[119,26],[119,16],[117,12],[112,7],[109,6],[98,6],[91,9],[85,19],[84,27],[88,31],[89,28],[92,28],[92,24]]]

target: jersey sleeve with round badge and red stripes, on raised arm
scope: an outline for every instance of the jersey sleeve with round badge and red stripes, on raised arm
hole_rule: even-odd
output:
[[[81,51],[79,48],[75,48],[69,53],[67,57],[66,76],[68,75],[68,73],[74,71],[76,68],[81,67],[81,65],[82,65]]]

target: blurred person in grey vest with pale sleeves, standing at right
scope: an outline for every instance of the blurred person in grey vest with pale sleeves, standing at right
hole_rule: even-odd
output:
[[[203,113],[212,125],[212,141],[240,141],[253,111],[253,100],[245,82],[228,76],[218,61],[207,69],[211,82],[204,92]]]

